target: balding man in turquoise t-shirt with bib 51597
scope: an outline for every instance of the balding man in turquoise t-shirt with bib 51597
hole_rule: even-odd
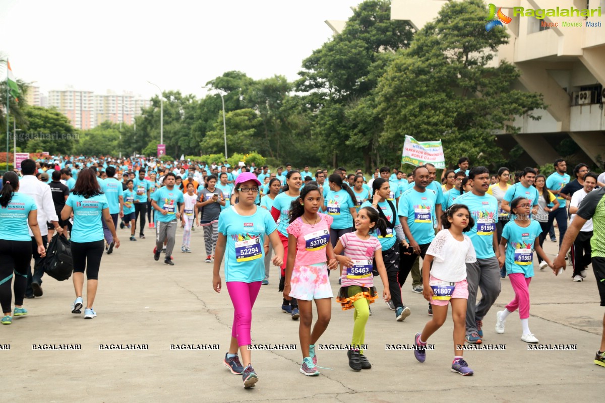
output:
[[[399,222],[404,230],[405,237],[413,249],[413,254],[401,254],[399,257],[399,284],[404,285],[405,279],[412,271],[412,291],[422,292],[422,276],[420,269],[413,270],[414,263],[418,257],[424,259],[428,247],[435,237],[433,218],[435,216],[435,205],[437,195],[427,189],[430,181],[430,173],[427,166],[419,166],[414,169],[414,185],[399,199],[397,214]]]

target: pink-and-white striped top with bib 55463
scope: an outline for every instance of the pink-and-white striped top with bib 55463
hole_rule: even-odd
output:
[[[373,286],[372,259],[374,253],[382,251],[378,238],[370,236],[368,239],[359,239],[355,232],[350,232],[341,236],[340,242],[344,247],[345,256],[353,260],[352,267],[342,268],[342,286]]]

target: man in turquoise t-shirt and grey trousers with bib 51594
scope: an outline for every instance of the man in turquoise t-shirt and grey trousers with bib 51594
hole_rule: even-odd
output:
[[[500,267],[504,265],[504,256],[500,256],[495,223],[498,221],[498,201],[488,195],[489,170],[486,167],[474,167],[468,173],[473,189],[456,198],[456,204],[465,204],[475,221],[468,236],[473,242],[477,261],[466,263],[466,282],[468,283],[468,301],[466,303],[466,341],[480,344],[483,337],[483,318],[500,295]],[[477,289],[481,289],[478,304]]]

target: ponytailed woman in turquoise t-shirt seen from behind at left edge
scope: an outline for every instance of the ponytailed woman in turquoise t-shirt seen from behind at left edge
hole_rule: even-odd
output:
[[[27,309],[23,308],[23,298],[32,256],[29,228],[38,244],[38,254],[41,257],[46,254],[38,227],[37,209],[33,198],[19,193],[19,176],[11,171],[5,173],[0,191],[0,305],[4,312],[2,324],[11,324],[13,320],[10,309],[13,272],[16,274],[13,315],[27,315]]]

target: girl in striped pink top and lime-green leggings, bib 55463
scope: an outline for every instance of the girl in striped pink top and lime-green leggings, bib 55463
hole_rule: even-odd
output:
[[[376,300],[374,287],[373,260],[382,280],[382,297],[391,299],[388,291],[387,269],[382,261],[382,246],[377,237],[370,232],[376,228],[386,233],[387,223],[380,218],[373,208],[360,208],[355,218],[355,232],[344,234],[336,243],[334,253],[336,260],[344,266],[341,274],[342,287],[336,301],[341,303],[342,310],[355,308],[353,341],[351,350],[347,351],[348,366],[353,370],[370,369],[370,361],[364,355],[365,324],[370,316],[370,304]],[[344,251],[344,256],[339,256]]]

